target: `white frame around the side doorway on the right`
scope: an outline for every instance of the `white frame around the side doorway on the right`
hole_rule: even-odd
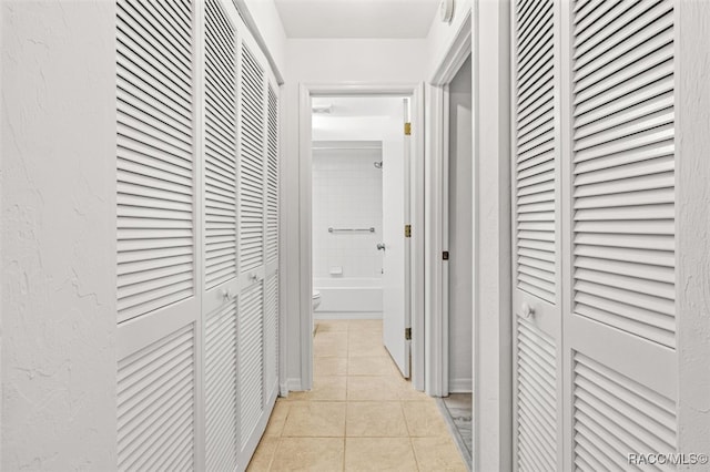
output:
[[[444,117],[446,85],[471,54],[473,92],[473,470],[513,470],[513,337],[511,337],[511,228],[510,228],[510,1],[473,0],[462,28],[427,88],[427,152],[434,175],[436,198],[444,192],[444,138],[448,138]],[[469,45],[467,45],[469,44]],[[429,171],[429,167],[427,167]],[[439,213],[439,218],[442,217]],[[439,227],[440,228],[440,225]],[[435,230],[434,278],[427,289],[427,308],[443,314],[444,281],[440,269],[443,235]],[[443,370],[448,372],[448,314],[437,324],[437,337],[427,348],[436,350],[434,368],[440,383],[432,390],[444,392]],[[448,329],[448,328],[447,328]],[[428,358],[429,356],[427,356]],[[429,370],[427,370],[429,373]]]

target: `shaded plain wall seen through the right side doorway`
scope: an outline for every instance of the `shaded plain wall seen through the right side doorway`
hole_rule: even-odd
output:
[[[449,391],[471,390],[473,121],[468,59],[449,84]]]

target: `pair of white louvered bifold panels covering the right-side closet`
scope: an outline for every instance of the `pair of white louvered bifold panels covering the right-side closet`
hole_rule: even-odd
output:
[[[513,21],[516,468],[629,470],[678,449],[673,2]]]

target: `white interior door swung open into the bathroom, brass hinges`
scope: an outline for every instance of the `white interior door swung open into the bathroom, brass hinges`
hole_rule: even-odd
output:
[[[408,121],[407,121],[408,122]],[[409,377],[412,341],[405,330],[412,326],[408,309],[407,238],[409,136],[383,143],[383,341],[405,378]]]

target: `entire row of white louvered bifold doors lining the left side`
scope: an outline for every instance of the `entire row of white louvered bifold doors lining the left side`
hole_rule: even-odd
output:
[[[277,393],[278,88],[231,1],[119,0],[119,470],[244,470]]]

